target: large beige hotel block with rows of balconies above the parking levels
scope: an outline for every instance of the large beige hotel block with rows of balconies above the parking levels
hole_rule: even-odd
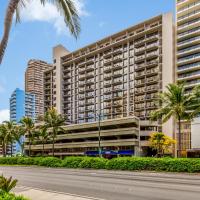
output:
[[[167,13],[71,53],[59,45],[44,76],[45,109],[54,105],[72,124],[136,116],[145,152],[152,131],[174,133],[172,120],[161,126],[149,119],[160,106],[156,95],[174,81],[173,36]]]

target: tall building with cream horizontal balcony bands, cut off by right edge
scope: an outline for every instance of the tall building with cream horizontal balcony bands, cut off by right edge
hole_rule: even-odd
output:
[[[177,23],[177,80],[185,82],[186,92],[200,84],[200,1],[199,0],[177,0],[176,1],[176,23]],[[199,120],[197,120],[199,121]],[[197,123],[195,129],[198,132]],[[191,124],[182,123],[182,150],[191,148]],[[200,138],[199,138],[200,140]],[[199,142],[200,148],[200,142]]]

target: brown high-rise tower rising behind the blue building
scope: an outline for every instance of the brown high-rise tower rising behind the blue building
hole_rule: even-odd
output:
[[[25,91],[35,95],[35,115],[44,114],[44,71],[50,69],[52,65],[41,60],[30,60],[25,72]]]

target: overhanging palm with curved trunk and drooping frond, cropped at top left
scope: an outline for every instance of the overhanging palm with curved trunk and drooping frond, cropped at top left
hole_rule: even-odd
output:
[[[39,1],[39,0],[36,0]],[[5,19],[4,19],[4,31],[3,37],[0,41],[0,64],[2,63],[5,49],[7,47],[10,29],[14,14],[16,13],[16,22],[20,21],[20,8],[25,7],[29,0],[9,0]],[[70,33],[77,38],[80,33],[80,23],[77,9],[72,0],[40,0],[41,4],[45,6],[45,3],[50,2],[54,4],[61,15],[64,17],[66,26],[69,28]]]

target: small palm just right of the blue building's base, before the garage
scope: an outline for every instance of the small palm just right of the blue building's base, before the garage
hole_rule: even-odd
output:
[[[22,124],[24,133],[28,135],[28,143],[29,143],[28,155],[31,156],[31,143],[34,141],[35,125],[34,125],[33,120],[30,117],[23,117],[20,120],[20,123]]]

